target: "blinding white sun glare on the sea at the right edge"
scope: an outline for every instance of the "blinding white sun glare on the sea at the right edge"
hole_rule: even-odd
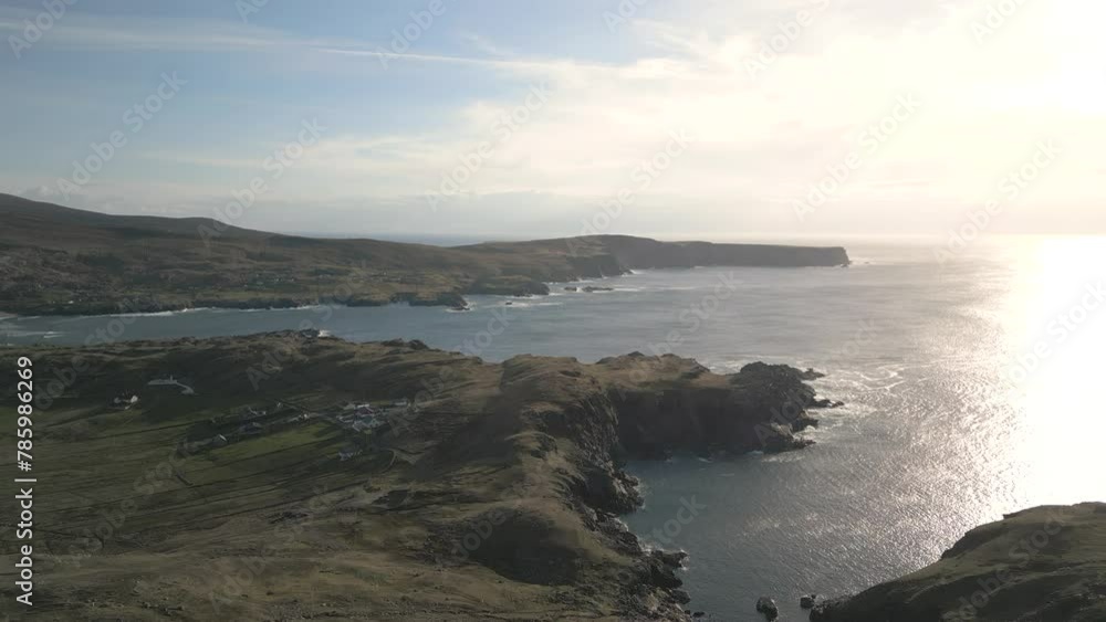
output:
[[[1032,505],[1106,500],[1106,239],[1041,241],[1022,261],[1003,365],[1019,412],[1009,456],[1023,474],[1015,496]]]

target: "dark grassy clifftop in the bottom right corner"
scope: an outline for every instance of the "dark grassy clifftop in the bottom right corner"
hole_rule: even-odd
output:
[[[1106,504],[1046,506],[978,527],[928,568],[818,607],[821,622],[1102,622]]]

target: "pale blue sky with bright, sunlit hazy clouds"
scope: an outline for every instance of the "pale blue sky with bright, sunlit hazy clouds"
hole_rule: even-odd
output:
[[[1104,24],[1100,0],[0,1],[0,192],[332,235],[1103,234]]]

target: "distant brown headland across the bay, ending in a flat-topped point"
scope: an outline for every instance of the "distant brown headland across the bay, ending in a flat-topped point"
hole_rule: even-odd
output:
[[[634,268],[847,265],[842,247],[591,235],[431,246],[282,235],[202,218],[108,215],[0,194],[0,310],[25,315],[542,295]]]

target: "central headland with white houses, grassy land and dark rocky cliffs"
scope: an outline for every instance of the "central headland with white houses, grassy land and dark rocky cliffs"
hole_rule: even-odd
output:
[[[80,492],[36,497],[48,620],[682,620],[681,556],[617,519],[640,503],[622,462],[801,447],[814,423],[812,372],[674,356],[316,333],[18,355],[58,393],[39,477]],[[194,394],[148,383],[170,375]]]

